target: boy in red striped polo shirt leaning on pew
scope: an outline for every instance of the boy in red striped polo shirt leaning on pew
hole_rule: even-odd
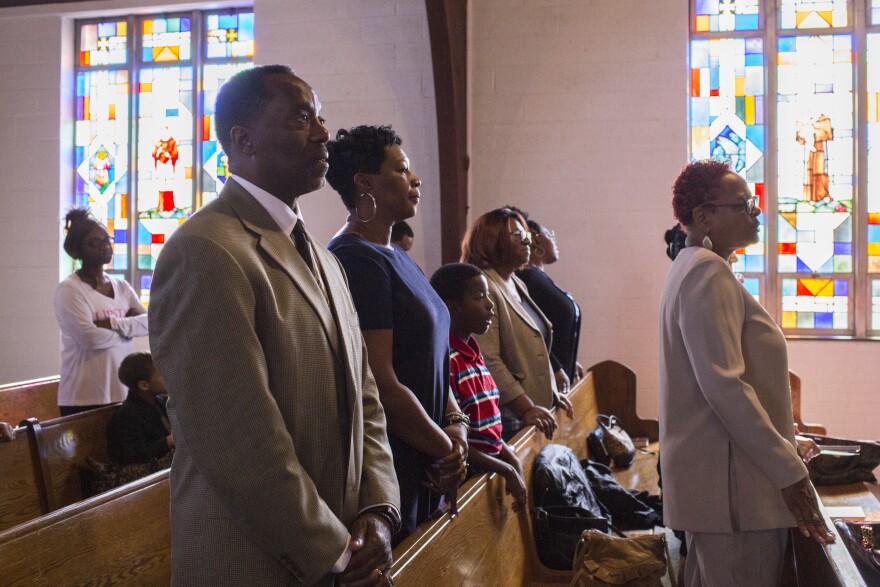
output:
[[[472,336],[484,334],[494,315],[486,278],[475,265],[450,263],[434,273],[431,285],[449,309],[449,386],[470,418],[471,468],[501,475],[513,496],[513,511],[520,511],[526,504],[522,464],[501,439],[498,386]]]

